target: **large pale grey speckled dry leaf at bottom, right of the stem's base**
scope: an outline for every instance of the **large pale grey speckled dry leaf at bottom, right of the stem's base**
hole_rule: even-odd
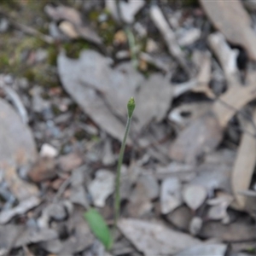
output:
[[[200,240],[157,222],[126,218],[120,219],[118,226],[124,236],[146,256],[173,255],[201,244]]]

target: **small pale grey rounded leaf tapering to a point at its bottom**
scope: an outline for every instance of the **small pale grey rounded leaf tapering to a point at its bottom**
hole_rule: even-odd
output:
[[[188,184],[183,189],[183,201],[185,201],[187,206],[194,211],[201,207],[206,198],[207,189],[205,189],[203,186]]]

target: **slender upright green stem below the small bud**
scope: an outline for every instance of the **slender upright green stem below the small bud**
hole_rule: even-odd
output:
[[[123,139],[120,153],[119,153],[119,161],[117,167],[117,176],[116,176],[116,183],[115,183],[115,197],[114,197],[114,230],[117,228],[117,221],[119,219],[119,211],[120,211],[120,177],[121,177],[121,166],[123,163],[124,153],[125,153],[125,143],[128,137],[128,133],[130,130],[131,125],[131,118],[127,118],[127,123],[125,127],[125,137]]]

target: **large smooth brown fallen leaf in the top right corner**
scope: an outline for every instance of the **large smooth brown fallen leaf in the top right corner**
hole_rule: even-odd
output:
[[[200,2],[213,26],[222,32],[231,44],[241,45],[247,49],[249,58],[256,61],[256,34],[251,26],[252,20],[241,1],[234,0],[232,4],[225,0]]]

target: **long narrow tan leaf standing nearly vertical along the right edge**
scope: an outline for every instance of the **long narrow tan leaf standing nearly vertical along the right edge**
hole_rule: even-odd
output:
[[[256,110],[253,111],[253,123],[256,122]],[[255,133],[251,122],[245,127],[245,131]],[[256,163],[256,141],[246,132],[241,137],[237,150],[237,156],[231,172],[231,185],[236,203],[232,206],[239,210],[245,210],[247,197],[239,194],[240,191],[249,189]]]

